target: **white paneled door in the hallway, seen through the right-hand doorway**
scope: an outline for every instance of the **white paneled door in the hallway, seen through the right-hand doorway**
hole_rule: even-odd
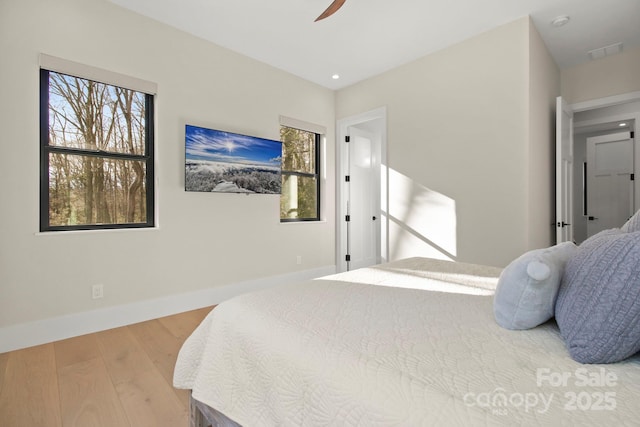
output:
[[[587,138],[587,237],[633,215],[633,157],[629,132]]]

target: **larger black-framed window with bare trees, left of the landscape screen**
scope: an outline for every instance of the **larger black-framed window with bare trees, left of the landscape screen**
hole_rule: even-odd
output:
[[[153,227],[153,95],[43,68],[40,126],[40,231]]]

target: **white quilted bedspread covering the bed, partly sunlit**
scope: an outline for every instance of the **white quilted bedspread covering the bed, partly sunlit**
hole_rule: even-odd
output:
[[[640,356],[581,365],[553,321],[500,328],[499,273],[411,258],[236,297],[174,385],[244,426],[638,425]]]

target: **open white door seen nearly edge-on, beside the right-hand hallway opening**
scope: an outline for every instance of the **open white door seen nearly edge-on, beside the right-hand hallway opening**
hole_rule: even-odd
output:
[[[573,111],[556,98],[556,241],[572,241]]]

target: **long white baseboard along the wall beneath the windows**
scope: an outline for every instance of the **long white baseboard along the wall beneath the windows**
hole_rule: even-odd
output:
[[[0,353],[208,307],[247,292],[266,289],[284,283],[314,279],[335,272],[335,266],[320,267],[186,294],[171,295],[7,326],[0,328]]]

